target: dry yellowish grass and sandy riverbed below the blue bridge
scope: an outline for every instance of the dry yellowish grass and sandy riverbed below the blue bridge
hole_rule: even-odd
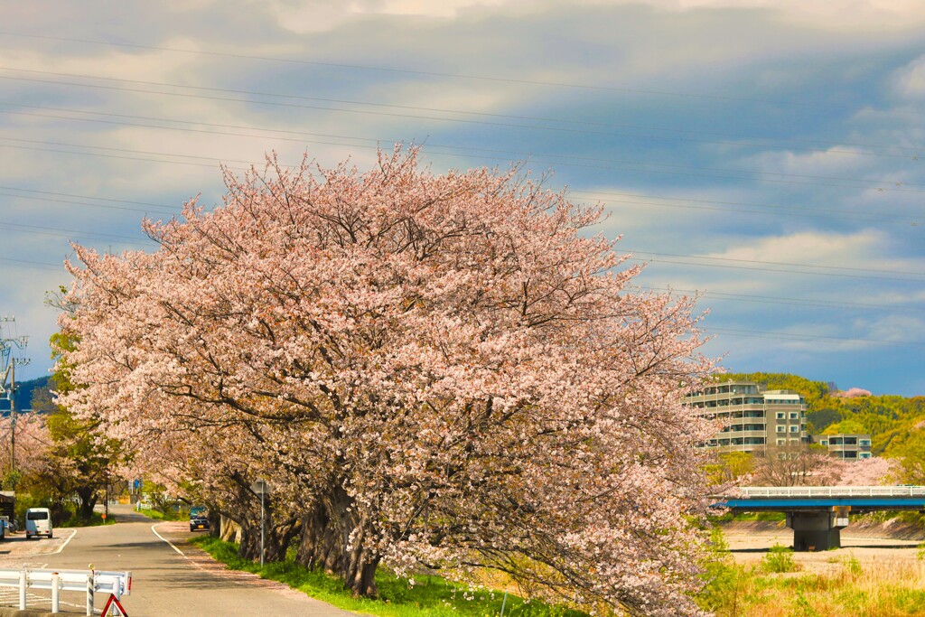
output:
[[[773,522],[723,525],[729,552],[710,573],[705,608],[721,617],[925,615],[919,527],[888,522],[842,532],[842,549],[793,553]],[[777,546],[777,549],[771,549]]]

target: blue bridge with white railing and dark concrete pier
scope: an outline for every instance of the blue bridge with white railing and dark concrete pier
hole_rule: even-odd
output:
[[[713,506],[734,514],[784,512],[794,550],[840,548],[849,513],[925,512],[925,487],[743,487],[735,493]]]

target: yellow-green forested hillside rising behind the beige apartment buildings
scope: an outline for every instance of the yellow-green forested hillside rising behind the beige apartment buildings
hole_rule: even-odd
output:
[[[786,373],[730,373],[720,376],[720,379],[749,379],[764,384],[768,389],[799,392],[807,400],[811,433],[821,433],[828,428],[870,433],[875,455],[888,453],[906,441],[912,431],[925,427],[925,397],[922,396],[870,396],[858,395],[857,392],[849,392],[851,396],[845,396],[844,392],[830,392],[824,381]],[[858,431],[858,428],[863,431]]]

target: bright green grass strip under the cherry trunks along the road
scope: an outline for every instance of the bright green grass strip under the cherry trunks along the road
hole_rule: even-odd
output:
[[[279,581],[345,611],[381,617],[495,617],[500,613],[504,596],[499,591],[469,591],[467,586],[450,583],[438,576],[415,575],[414,585],[410,585],[407,579],[398,578],[379,568],[376,573],[379,598],[353,598],[339,578],[308,570],[291,559],[267,563],[262,568],[259,563],[241,559],[236,544],[212,536],[194,537],[191,542],[232,570],[253,572],[262,578]],[[507,598],[504,615],[586,617],[583,612],[542,602],[528,602],[512,595]]]

